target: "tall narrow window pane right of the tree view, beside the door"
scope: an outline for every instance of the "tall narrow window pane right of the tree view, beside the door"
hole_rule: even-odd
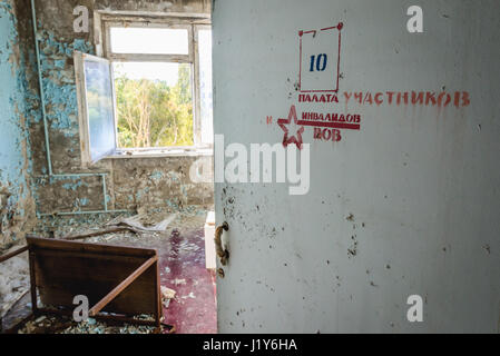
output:
[[[212,107],[212,30],[198,31],[198,52],[202,142],[214,144],[214,117]]]

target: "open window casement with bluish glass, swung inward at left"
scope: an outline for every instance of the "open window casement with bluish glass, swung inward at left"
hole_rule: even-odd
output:
[[[88,167],[117,150],[111,62],[75,52],[81,164]]]

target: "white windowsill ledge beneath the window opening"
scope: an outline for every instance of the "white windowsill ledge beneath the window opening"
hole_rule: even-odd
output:
[[[205,157],[214,156],[213,148],[139,148],[119,149],[106,159],[161,158],[161,157]]]

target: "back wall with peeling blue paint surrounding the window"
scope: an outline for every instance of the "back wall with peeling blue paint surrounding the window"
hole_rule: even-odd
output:
[[[22,19],[31,26],[29,1]],[[78,109],[75,87],[73,51],[95,53],[92,21],[89,33],[73,32],[73,8],[94,10],[209,13],[208,1],[78,1],[37,0],[38,36],[52,171],[55,175],[107,172],[106,199],[109,209],[136,209],[143,206],[179,207],[212,204],[213,186],[192,184],[189,167],[196,159],[130,158],[104,160],[89,170],[81,169]],[[27,39],[32,37],[27,33]],[[28,41],[26,46],[29,44]],[[41,117],[30,126],[37,209],[56,211],[102,210],[104,191],[100,177],[48,177],[46,145]]]

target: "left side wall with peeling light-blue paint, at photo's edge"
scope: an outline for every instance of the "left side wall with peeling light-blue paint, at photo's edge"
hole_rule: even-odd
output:
[[[0,1],[0,249],[23,238],[33,220],[27,125],[37,115],[28,95],[29,58],[20,50],[14,1]]]

